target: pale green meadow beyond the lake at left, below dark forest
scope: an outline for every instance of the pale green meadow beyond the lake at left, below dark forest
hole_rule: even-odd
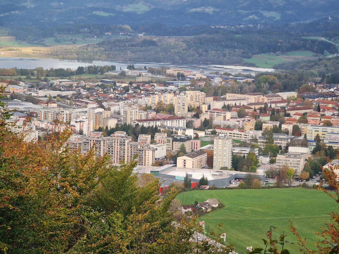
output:
[[[88,35],[86,35],[88,36]],[[92,36],[86,37],[83,34],[59,34],[56,37],[48,37],[44,43],[50,45],[81,45],[87,43],[96,43],[102,41],[101,39],[94,38]]]

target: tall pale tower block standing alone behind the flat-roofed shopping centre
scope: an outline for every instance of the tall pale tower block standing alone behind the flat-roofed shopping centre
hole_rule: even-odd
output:
[[[232,137],[219,134],[214,138],[213,169],[221,167],[231,168],[232,164]]]

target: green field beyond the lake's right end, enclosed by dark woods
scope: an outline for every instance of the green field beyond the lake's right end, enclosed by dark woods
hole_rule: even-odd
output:
[[[308,50],[296,50],[290,51],[285,54],[276,56],[275,54],[265,53],[259,55],[253,55],[252,58],[243,58],[243,62],[254,63],[260,68],[272,68],[276,63],[282,63],[286,61],[311,59],[315,55],[314,52]]]

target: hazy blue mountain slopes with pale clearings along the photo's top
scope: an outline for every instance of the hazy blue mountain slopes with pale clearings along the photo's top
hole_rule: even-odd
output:
[[[338,0],[4,0],[0,24],[284,24],[339,17]]]

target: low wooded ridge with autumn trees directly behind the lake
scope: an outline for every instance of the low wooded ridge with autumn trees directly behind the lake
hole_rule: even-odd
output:
[[[128,59],[171,63],[241,64],[242,58],[266,52],[311,50],[323,54],[324,50],[338,52],[332,43],[317,39],[303,39],[279,31],[262,31],[235,36],[228,33],[193,37],[151,39],[112,39],[81,48],[58,52],[59,59]],[[246,62],[246,59],[244,59]]]

